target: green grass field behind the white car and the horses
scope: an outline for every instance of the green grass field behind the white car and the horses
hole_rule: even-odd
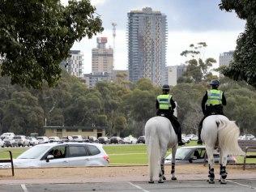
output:
[[[196,142],[192,141],[186,146],[194,146]],[[136,145],[105,145],[104,149],[110,158],[110,165],[141,165],[147,164],[147,148],[144,144],[136,144]],[[10,148],[4,147],[0,148],[0,151],[8,151],[10,150],[13,154],[13,157],[16,158],[23,151],[28,150],[28,148]],[[168,154],[171,151],[168,151]],[[256,153],[254,153],[256,154]],[[7,152],[0,153],[0,159],[8,158],[9,154]],[[237,156],[237,163],[242,163],[243,157]],[[247,159],[246,163],[248,164],[256,164],[256,159]]]

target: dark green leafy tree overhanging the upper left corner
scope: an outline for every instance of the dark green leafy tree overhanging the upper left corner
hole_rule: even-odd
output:
[[[102,32],[101,20],[89,0],[2,0],[0,2],[1,75],[11,83],[50,87],[61,77],[60,62],[75,41]]]

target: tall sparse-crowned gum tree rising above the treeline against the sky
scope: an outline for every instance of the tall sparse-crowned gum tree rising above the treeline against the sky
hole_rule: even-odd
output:
[[[206,47],[207,44],[205,42],[199,42],[197,45],[191,44],[189,50],[185,50],[181,53],[181,56],[189,58],[189,60],[186,62],[186,72],[178,79],[178,83],[198,83],[212,76],[208,69],[216,61],[214,58],[207,58],[203,62],[203,56],[201,54]]]

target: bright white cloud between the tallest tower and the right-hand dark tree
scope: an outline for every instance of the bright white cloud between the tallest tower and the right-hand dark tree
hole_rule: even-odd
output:
[[[237,36],[242,31],[234,32],[169,32],[169,41],[167,47],[167,66],[175,66],[186,62],[186,58],[180,53],[189,49],[190,44],[206,42],[207,48],[203,58],[215,58],[219,66],[220,53],[234,50],[236,48]]]

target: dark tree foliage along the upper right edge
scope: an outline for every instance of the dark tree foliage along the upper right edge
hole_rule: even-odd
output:
[[[240,19],[246,20],[245,32],[237,39],[233,62],[224,67],[222,73],[234,80],[245,80],[256,87],[256,0],[221,0],[220,9],[236,11]]]

